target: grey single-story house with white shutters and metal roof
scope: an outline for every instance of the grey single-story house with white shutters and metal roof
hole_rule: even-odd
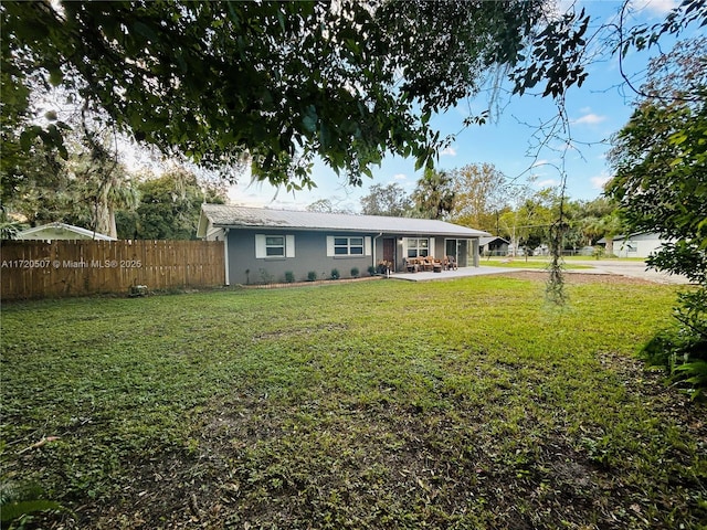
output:
[[[350,215],[203,204],[197,235],[223,241],[226,284],[360,275],[387,263],[403,272],[405,258],[452,256],[478,266],[478,239],[489,235],[429,219]]]

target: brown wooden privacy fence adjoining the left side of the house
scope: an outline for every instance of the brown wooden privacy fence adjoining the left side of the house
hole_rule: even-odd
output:
[[[3,241],[2,299],[225,284],[222,241]]]

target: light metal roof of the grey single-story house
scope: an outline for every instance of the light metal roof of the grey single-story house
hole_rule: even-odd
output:
[[[489,235],[487,232],[482,232],[481,230],[430,219],[296,212],[229,204],[203,204],[201,209],[202,216],[205,216],[211,225],[224,229],[329,230],[337,232],[382,232],[389,234],[446,235],[454,237],[481,237]],[[203,235],[202,223],[200,223],[199,231],[200,235]]]

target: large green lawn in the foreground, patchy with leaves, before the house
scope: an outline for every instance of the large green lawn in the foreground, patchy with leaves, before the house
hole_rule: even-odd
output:
[[[27,528],[705,528],[706,407],[632,357],[676,287],[599,280],[6,304],[2,479]]]

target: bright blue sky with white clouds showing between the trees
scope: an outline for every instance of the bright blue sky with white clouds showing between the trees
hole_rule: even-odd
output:
[[[592,22],[594,28],[614,19],[622,4],[615,0],[578,3],[587,9],[592,20],[595,18],[595,22]],[[629,23],[656,23],[675,4],[675,0],[634,0],[632,20]],[[648,54],[631,53],[624,62],[624,72],[637,80],[640,85],[650,55],[655,53],[655,50]],[[538,189],[557,186],[560,181],[557,168],[562,163],[560,151],[568,146],[567,140],[551,138],[545,149],[538,150],[538,139],[544,138],[538,126],[557,114],[555,103],[549,98],[528,94],[510,98],[502,96],[498,103],[503,109],[495,119],[481,127],[463,129],[463,119],[469,112],[479,113],[485,109],[487,100],[487,96],[482,94],[433,118],[433,126],[442,135],[458,132],[450,148],[440,153],[436,169],[451,170],[469,163],[489,162],[517,182],[525,182],[528,177],[532,177],[531,186]],[[633,93],[621,78],[615,56],[594,63],[581,88],[572,87],[568,92],[566,109],[572,142],[566,151],[564,170],[567,191],[571,199],[591,200],[600,195],[602,184],[610,177],[610,168],[605,161],[609,149],[606,140],[627,121],[633,100]],[[328,199],[338,208],[359,211],[360,198],[368,194],[372,184],[397,182],[410,193],[422,172],[414,171],[413,159],[387,157],[381,167],[373,167],[373,174],[372,180],[365,178],[362,188],[355,188],[347,186],[342,178],[337,177],[324,163],[316,163],[313,180],[317,188],[295,193],[267,184],[251,184],[250,177],[244,174],[240,183],[231,189],[230,199],[234,204],[287,210],[304,210],[319,199]]]

